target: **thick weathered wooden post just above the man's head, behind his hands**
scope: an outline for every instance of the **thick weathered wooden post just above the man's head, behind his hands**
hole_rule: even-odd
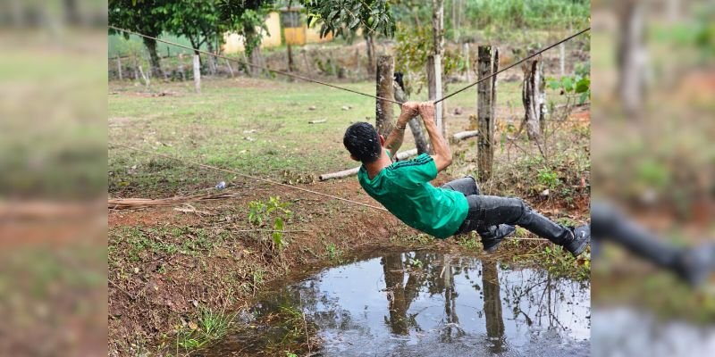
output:
[[[377,96],[394,100],[392,78],[394,77],[395,62],[390,55],[382,55],[377,59],[376,93]],[[386,100],[375,99],[375,128],[383,137],[387,137],[394,126],[392,122],[392,103]]]

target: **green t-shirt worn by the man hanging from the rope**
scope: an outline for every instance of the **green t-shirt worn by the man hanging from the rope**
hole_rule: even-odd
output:
[[[454,235],[467,218],[467,198],[457,191],[433,187],[430,180],[437,177],[437,166],[428,154],[414,160],[394,162],[373,179],[365,166],[357,172],[367,195],[405,222],[438,238]]]

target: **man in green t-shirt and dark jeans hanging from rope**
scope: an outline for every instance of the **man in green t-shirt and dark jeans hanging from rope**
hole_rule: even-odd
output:
[[[405,126],[417,114],[425,121],[434,154],[392,162],[402,145]],[[588,225],[565,227],[535,212],[519,198],[480,195],[472,177],[433,187],[430,181],[450,166],[452,154],[434,122],[432,102],[402,104],[397,126],[387,139],[378,135],[371,124],[357,122],[345,131],[342,142],[350,157],[363,163],[357,179],[367,194],[409,227],[434,237],[447,238],[475,230],[482,237],[484,250],[492,253],[518,225],[563,246],[574,256],[583,253],[591,240]]]

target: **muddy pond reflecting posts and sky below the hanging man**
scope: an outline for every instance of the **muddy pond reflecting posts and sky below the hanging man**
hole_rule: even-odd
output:
[[[557,357],[590,352],[587,284],[553,278],[545,270],[442,253],[389,253],[326,269],[266,294],[252,316],[249,328],[204,353]]]

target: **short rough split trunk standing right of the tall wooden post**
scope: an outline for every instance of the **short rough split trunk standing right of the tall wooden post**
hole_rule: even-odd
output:
[[[524,79],[521,88],[521,101],[524,104],[524,124],[529,140],[539,140],[542,135],[542,120],[545,105],[543,103],[543,64],[541,56],[521,65]]]

